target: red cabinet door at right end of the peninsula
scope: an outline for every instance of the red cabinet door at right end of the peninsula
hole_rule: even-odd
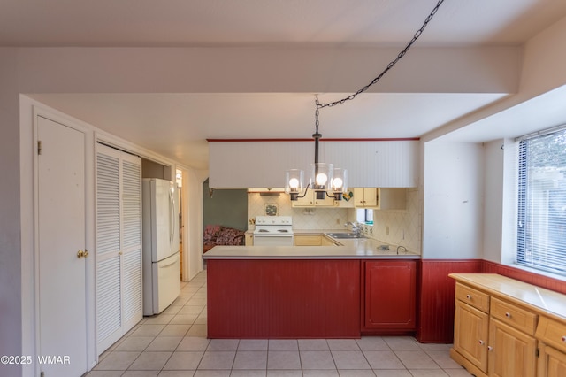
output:
[[[417,262],[363,262],[363,333],[412,333],[417,329]]]

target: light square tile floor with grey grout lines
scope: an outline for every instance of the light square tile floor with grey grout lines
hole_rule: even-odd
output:
[[[412,337],[210,340],[206,271],[181,287],[170,307],[142,319],[87,376],[470,376],[449,357],[450,344]]]

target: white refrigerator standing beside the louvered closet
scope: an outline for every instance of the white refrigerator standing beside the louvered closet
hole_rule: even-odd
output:
[[[142,180],[143,315],[163,312],[180,294],[177,184]]]

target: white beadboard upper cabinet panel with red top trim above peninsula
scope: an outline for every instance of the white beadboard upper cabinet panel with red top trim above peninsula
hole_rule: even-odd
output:
[[[348,186],[418,186],[420,143],[409,141],[324,141],[319,161],[348,169]],[[302,169],[305,186],[314,161],[314,142],[210,141],[211,188],[277,188],[287,169]]]

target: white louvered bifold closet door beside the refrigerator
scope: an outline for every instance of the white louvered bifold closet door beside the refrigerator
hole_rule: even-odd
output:
[[[96,342],[108,349],[142,319],[142,162],[96,146]]]

